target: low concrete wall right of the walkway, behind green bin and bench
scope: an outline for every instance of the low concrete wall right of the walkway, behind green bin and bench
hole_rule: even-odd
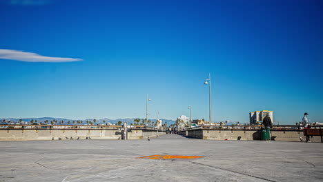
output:
[[[228,130],[228,129],[193,129],[177,132],[178,134],[195,139],[207,140],[261,140],[261,130]],[[271,140],[273,141],[300,141],[300,137],[305,141],[302,130],[271,130]],[[320,136],[313,136],[311,141],[320,141]]]

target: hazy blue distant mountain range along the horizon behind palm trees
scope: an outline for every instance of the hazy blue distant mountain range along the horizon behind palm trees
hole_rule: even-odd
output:
[[[8,122],[9,120],[12,122],[12,123],[19,123],[20,119],[17,119],[17,118],[1,118],[0,119],[0,123],[3,122],[3,119],[6,120],[6,122]],[[128,122],[128,125],[130,125],[131,123],[134,123],[134,120],[135,118],[126,118],[126,119],[108,119],[108,118],[104,118],[104,119],[96,119],[96,123],[97,124],[103,124],[104,121],[106,121],[106,123],[112,123],[112,124],[115,124],[117,123],[118,121],[121,121],[122,123],[124,121],[127,121]],[[68,124],[68,121],[70,121],[70,123],[72,123],[72,121],[83,121],[83,123],[86,123],[86,121],[92,121],[94,119],[64,119],[64,118],[53,118],[53,117],[41,117],[41,118],[21,118],[21,120],[23,122],[30,122],[31,120],[34,120],[36,121],[37,120],[37,123],[44,123],[44,121],[48,120],[49,122],[50,121],[63,121],[63,124]],[[140,119],[141,120],[141,119]],[[150,121],[156,121],[156,119],[149,119]],[[161,119],[161,121],[163,121],[163,124],[165,122],[167,122],[167,125],[171,125],[171,124],[175,124],[175,121],[173,120],[170,120],[170,119]]]

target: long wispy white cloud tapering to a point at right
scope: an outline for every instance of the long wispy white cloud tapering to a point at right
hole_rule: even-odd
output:
[[[6,50],[6,49],[0,49],[0,59],[10,59],[15,61],[26,61],[26,62],[43,62],[43,63],[83,61],[83,59],[78,59],[78,58],[45,57],[32,52],[23,52],[19,50]]]

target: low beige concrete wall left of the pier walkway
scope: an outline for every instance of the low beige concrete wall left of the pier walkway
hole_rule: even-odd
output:
[[[72,139],[121,139],[121,130],[117,129],[2,129],[0,141],[28,141],[28,140],[70,140]],[[165,134],[149,129],[133,129],[128,132],[128,139],[146,139]]]

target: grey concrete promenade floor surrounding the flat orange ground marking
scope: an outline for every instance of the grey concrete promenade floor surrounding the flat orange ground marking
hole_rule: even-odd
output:
[[[323,144],[212,141],[0,141],[0,181],[323,181]],[[199,159],[135,159],[155,154]]]

